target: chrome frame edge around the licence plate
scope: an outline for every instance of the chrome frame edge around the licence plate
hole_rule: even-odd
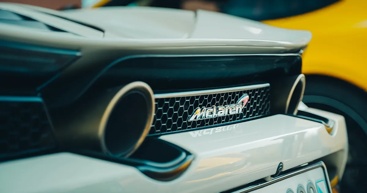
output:
[[[329,179],[329,176],[327,175],[326,165],[324,164],[323,161],[319,161],[319,162],[317,162],[315,164],[306,165],[306,166],[302,167],[301,169],[298,169],[297,171],[290,172],[288,174],[284,174],[284,175],[278,176],[278,177],[272,179],[271,181],[264,182],[264,183],[259,184],[259,185],[245,187],[243,189],[236,190],[236,191],[231,192],[231,193],[248,193],[248,192],[251,192],[251,191],[254,191],[254,190],[263,188],[265,186],[272,185],[273,183],[282,181],[282,180],[287,179],[287,178],[290,178],[292,176],[295,176],[295,175],[298,175],[298,174],[302,174],[304,172],[310,171],[310,170],[315,169],[315,168],[318,168],[318,167],[322,167],[323,168],[325,179],[326,179],[326,183],[327,183],[328,192],[331,192],[330,179]]]

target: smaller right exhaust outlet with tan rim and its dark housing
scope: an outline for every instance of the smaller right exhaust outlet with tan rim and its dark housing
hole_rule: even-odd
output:
[[[272,113],[296,115],[298,105],[305,92],[305,86],[306,77],[304,74],[272,81],[270,83]]]

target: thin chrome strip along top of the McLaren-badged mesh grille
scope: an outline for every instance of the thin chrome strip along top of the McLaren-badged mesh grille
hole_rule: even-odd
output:
[[[197,95],[203,95],[203,94],[236,92],[236,91],[242,91],[242,90],[259,89],[259,88],[264,88],[268,86],[270,86],[270,84],[265,83],[265,84],[259,84],[259,85],[237,86],[237,87],[229,87],[229,88],[223,88],[223,89],[198,90],[198,91],[177,92],[177,93],[163,93],[163,94],[154,94],[154,98],[163,99],[163,98],[171,98],[171,97],[184,97],[184,96],[197,96]]]

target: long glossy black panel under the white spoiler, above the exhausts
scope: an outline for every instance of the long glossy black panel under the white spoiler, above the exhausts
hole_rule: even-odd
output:
[[[65,71],[42,94],[52,108],[72,103],[90,88],[133,81],[166,91],[228,87],[298,75],[301,65],[299,54],[133,55],[110,64],[90,64],[82,72]]]

